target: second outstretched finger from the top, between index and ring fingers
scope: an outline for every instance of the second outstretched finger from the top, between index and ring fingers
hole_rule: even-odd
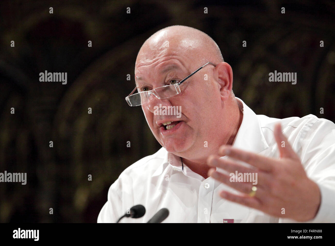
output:
[[[235,161],[217,158],[216,156],[210,156],[208,158],[207,164],[211,167],[218,167],[224,169],[233,175],[235,175],[236,173],[242,174],[244,177],[246,177],[246,180],[244,180],[245,182],[253,181],[254,185],[260,183],[266,186],[271,180],[270,177],[266,176],[268,174],[260,171],[259,169],[248,168],[238,164]],[[210,176],[209,173],[208,176]],[[252,177],[254,180],[252,180]]]

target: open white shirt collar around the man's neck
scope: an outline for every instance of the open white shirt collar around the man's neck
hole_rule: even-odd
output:
[[[258,117],[240,98],[235,98],[242,109],[243,119],[232,146],[249,152],[262,152],[269,146],[265,141]],[[183,169],[181,158],[165,150],[163,164],[157,168],[152,176],[162,174],[164,169],[169,165],[174,170],[182,171]]]

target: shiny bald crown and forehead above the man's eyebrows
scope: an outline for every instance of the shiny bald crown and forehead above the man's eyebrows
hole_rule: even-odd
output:
[[[210,36],[193,27],[174,25],[155,32],[144,42],[135,67],[168,55],[184,56],[187,62],[199,66],[223,62],[221,51]]]

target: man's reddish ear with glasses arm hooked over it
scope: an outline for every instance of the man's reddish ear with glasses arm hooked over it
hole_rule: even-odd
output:
[[[227,100],[232,90],[232,69],[230,65],[226,62],[217,64],[214,69],[214,78],[218,83],[221,100]]]

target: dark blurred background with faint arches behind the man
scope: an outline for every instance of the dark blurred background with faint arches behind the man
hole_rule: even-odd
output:
[[[161,147],[125,96],[141,45],[166,26],[209,34],[233,69],[235,95],[257,114],[335,121],[334,1],[43,0],[0,8],[0,172],[27,173],[26,185],[0,183],[0,222],[96,222],[120,173]],[[67,72],[67,84],[40,82],[45,70]],[[296,85],[269,82],[274,70],[296,72]]]

